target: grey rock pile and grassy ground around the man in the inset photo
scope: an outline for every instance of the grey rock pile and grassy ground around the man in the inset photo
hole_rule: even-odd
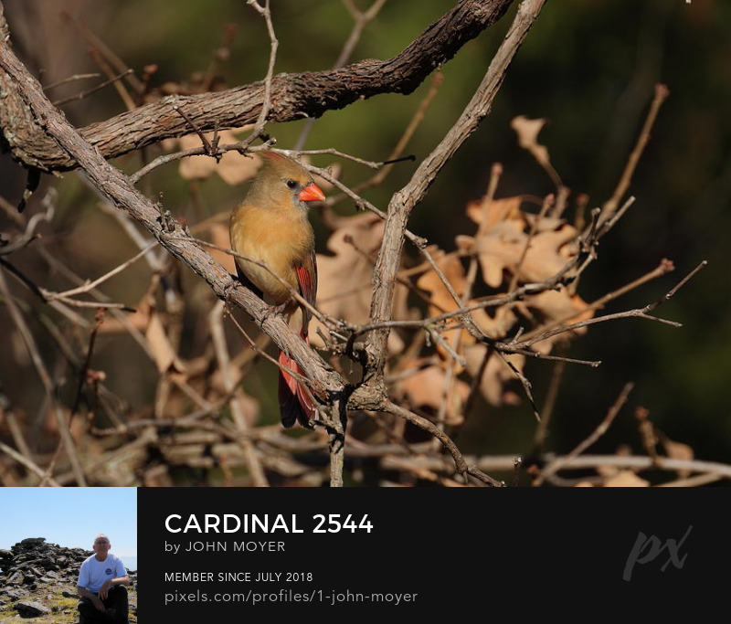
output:
[[[79,567],[93,551],[47,544],[45,537],[28,537],[0,550],[0,623],[16,621],[75,624],[79,621],[76,582]],[[137,624],[137,572],[132,581],[130,623]]]

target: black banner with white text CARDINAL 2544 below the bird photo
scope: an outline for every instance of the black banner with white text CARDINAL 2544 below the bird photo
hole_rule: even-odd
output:
[[[726,523],[704,511],[719,495],[141,489],[140,608],[143,621],[404,617],[516,593],[707,592],[726,584],[712,574]]]

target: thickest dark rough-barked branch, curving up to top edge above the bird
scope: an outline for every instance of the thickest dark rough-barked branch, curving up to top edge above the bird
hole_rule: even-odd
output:
[[[410,93],[429,73],[452,58],[470,39],[503,16],[513,0],[461,0],[408,48],[387,60],[366,59],[340,69],[281,74],[271,81],[270,122],[319,117],[380,93]],[[0,5],[2,9],[2,5]],[[0,46],[8,45],[6,37]],[[176,96],[177,105],[202,132],[256,122],[264,104],[264,82],[216,93]],[[0,72],[0,128],[3,147],[17,161],[41,171],[78,166],[74,158],[27,117],[12,79]],[[190,126],[163,100],[91,124],[80,134],[111,158],[163,139],[182,136]]]

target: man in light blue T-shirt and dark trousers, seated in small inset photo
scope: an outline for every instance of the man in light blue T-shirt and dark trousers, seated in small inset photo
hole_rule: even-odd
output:
[[[79,570],[76,590],[79,600],[79,624],[91,622],[117,622],[127,624],[129,608],[127,588],[130,577],[117,555],[109,550],[109,537],[98,534],[94,538],[94,553]]]

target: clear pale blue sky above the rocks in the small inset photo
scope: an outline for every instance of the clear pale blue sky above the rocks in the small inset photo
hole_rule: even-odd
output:
[[[115,555],[137,556],[137,488],[0,488],[0,548],[45,537],[91,550],[99,533]]]

